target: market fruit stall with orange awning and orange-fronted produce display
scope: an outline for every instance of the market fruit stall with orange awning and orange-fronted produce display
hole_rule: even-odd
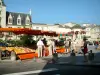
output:
[[[12,32],[16,35],[27,34],[27,35],[47,35],[47,36],[57,36],[56,32],[41,31],[41,30],[32,30],[29,28],[0,28],[0,32]],[[20,60],[32,59],[38,57],[37,50],[29,49],[27,47],[0,47],[2,51],[8,51],[11,56],[11,59]],[[43,50],[43,55],[48,56],[48,48],[46,47]]]

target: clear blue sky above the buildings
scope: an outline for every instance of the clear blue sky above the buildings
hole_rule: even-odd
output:
[[[29,13],[33,23],[100,25],[100,0],[4,0],[7,11]]]

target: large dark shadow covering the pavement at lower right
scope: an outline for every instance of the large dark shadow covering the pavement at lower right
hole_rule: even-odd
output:
[[[76,62],[78,63],[75,65],[75,63],[67,63],[69,62],[70,56],[68,54],[62,54],[58,58],[57,63],[52,63],[50,60],[52,58],[43,60],[47,61],[47,64],[42,69],[43,71],[46,69],[49,69],[49,71],[41,72],[39,75],[99,75],[100,74],[100,64],[94,65],[96,63],[100,63],[100,52],[95,53],[93,64],[88,64],[87,62],[84,62],[83,54],[78,54],[76,56]],[[59,62],[63,62],[62,64],[58,64]],[[79,64],[82,63],[82,64]],[[86,65],[84,65],[86,64]]]

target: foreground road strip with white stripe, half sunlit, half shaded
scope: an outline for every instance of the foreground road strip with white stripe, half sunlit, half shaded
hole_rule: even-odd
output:
[[[98,75],[100,74],[99,67],[56,65],[25,60],[0,63],[0,75],[76,75],[81,73],[81,75]]]

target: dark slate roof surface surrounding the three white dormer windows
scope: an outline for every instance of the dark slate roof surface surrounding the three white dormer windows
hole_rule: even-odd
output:
[[[12,25],[17,25],[17,18],[20,15],[21,17],[21,25],[26,25],[26,17],[29,16],[30,18],[30,23],[32,23],[31,21],[31,16],[30,14],[25,14],[25,13],[16,13],[16,12],[6,12],[6,23],[8,24],[8,17],[11,14],[11,16],[13,17],[13,23]]]

